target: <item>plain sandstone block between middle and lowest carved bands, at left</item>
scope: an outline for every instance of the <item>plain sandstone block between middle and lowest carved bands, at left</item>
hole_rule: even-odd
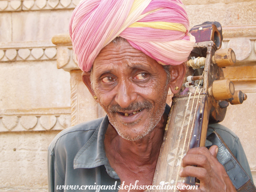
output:
[[[1,63],[0,109],[70,106],[70,74],[56,61]]]

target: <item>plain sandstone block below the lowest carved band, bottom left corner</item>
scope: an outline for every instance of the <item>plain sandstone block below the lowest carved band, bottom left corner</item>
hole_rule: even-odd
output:
[[[47,190],[47,148],[57,133],[0,134],[1,191]]]

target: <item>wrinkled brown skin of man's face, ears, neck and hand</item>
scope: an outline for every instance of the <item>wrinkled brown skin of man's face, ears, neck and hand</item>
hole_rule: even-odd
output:
[[[177,93],[174,88],[181,86],[184,75],[184,65],[172,66],[168,80],[161,65],[126,41],[102,49],[93,63],[92,82],[90,72],[83,72],[83,82],[108,114],[105,151],[121,183],[151,185],[167,121],[168,89]],[[197,191],[236,191],[216,159],[216,147],[190,149],[180,175],[199,178]]]

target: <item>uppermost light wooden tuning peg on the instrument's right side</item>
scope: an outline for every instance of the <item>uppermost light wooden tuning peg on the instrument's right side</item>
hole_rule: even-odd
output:
[[[233,66],[236,62],[236,54],[233,49],[219,49],[212,57],[212,62],[219,68]]]

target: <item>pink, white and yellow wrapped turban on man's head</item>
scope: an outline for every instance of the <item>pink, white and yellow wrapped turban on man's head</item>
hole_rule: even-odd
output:
[[[69,30],[82,71],[118,36],[162,65],[186,61],[195,43],[180,0],[83,0]]]

